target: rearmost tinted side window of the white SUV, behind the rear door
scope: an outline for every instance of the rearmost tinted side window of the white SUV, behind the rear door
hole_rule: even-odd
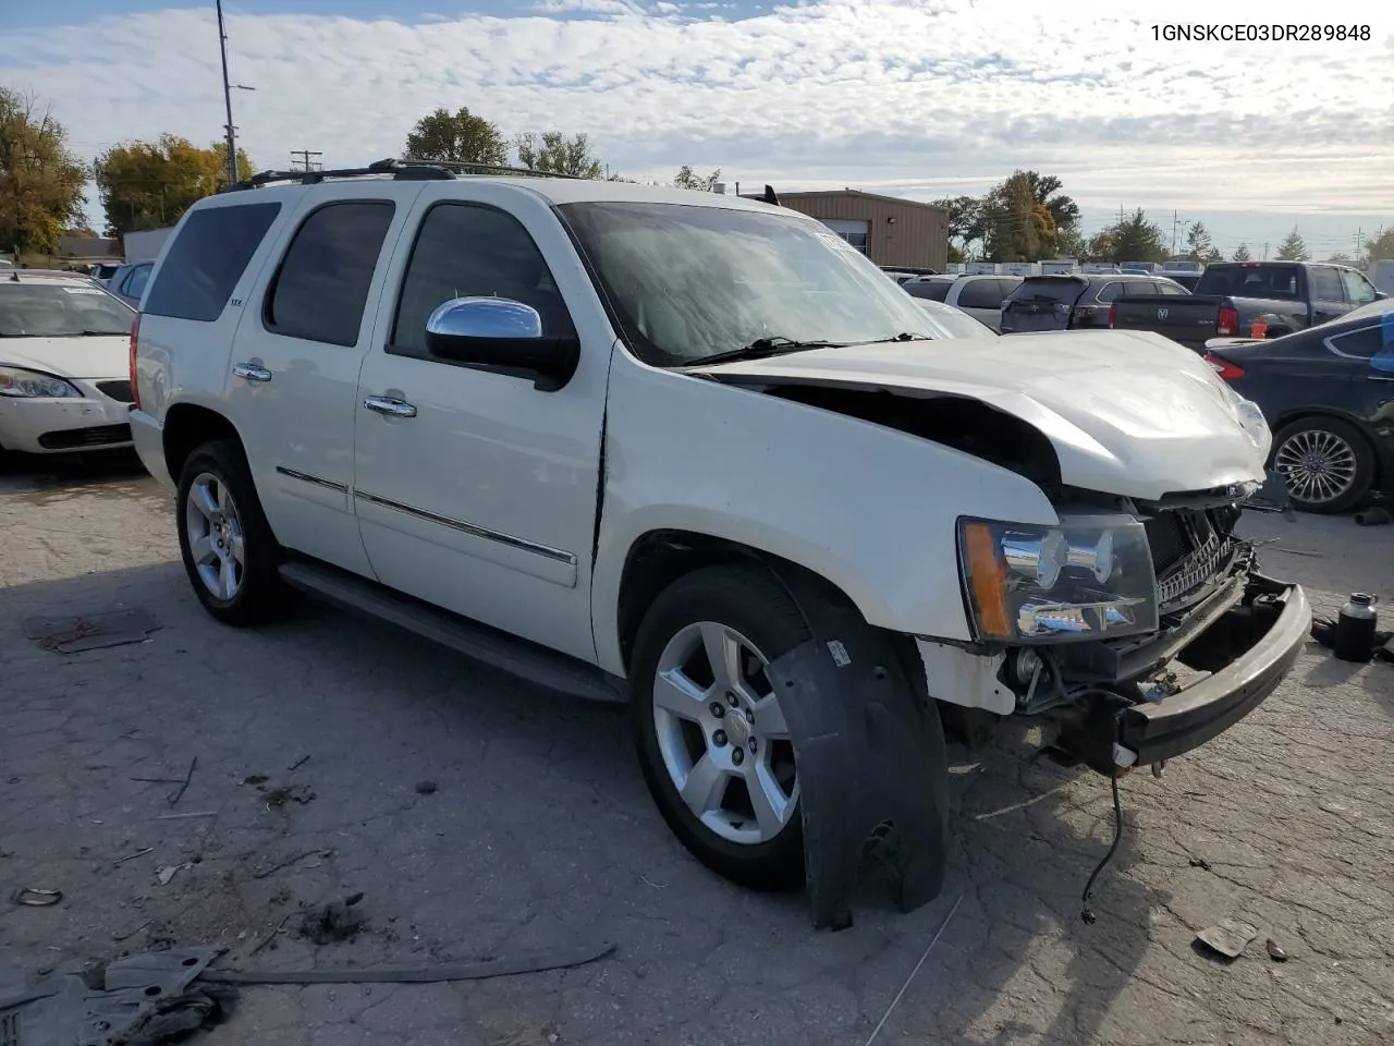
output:
[[[195,211],[164,255],[145,312],[205,324],[217,319],[277,213],[280,204]]]

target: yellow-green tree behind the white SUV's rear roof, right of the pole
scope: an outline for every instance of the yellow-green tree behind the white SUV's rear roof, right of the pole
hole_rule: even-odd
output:
[[[237,177],[250,179],[252,162],[237,151]],[[123,142],[92,165],[109,236],[166,229],[227,181],[227,146],[201,149],[188,138],[162,134],[153,142]]]

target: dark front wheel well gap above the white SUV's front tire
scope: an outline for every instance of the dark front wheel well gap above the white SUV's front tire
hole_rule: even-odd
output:
[[[758,563],[789,587],[796,600],[796,591],[800,587],[807,590],[807,584],[813,583],[827,597],[855,607],[852,598],[831,582],[782,556],[708,534],[651,530],[629,549],[620,577],[618,626],[620,655],[626,665],[644,612],[658,594],[679,577],[725,563]]]

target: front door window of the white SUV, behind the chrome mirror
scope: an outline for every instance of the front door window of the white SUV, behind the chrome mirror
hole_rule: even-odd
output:
[[[436,204],[411,247],[392,351],[427,356],[431,314],[450,298],[474,296],[531,305],[546,336],[576,333],[552,272],[521,222],[481,204]]]

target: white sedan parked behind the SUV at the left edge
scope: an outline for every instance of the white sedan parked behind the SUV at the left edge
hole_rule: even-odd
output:
[[[130,446],[134,319],[86,276],[0,278],[0,453]]]

